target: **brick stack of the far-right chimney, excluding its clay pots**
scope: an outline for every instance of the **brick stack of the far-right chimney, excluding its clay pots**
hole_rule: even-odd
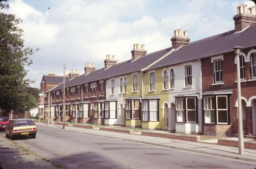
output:
[[[249,25],[256,23],[256,17],[252,14],[240,13],[233,17],[235,21],[235,32],[242,31]]]

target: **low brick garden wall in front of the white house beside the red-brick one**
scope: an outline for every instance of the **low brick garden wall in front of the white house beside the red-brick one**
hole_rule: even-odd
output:
[[[184,141],[192,141],[197,142],[200,141],[200,136],[193,135],[184,135],[184,134],[175,134],[175,133],[159,133],[152,131],[141,131],[142,136],[151,136],[151,137],[162,137],[169,138],[175,140],[184,140]]]

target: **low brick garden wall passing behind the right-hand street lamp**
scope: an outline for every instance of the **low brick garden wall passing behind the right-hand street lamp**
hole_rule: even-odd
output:
[[[230,140],[225,138],[218,138],[218,144],[230,147],[238,147],[237,140]],[[256,150],[256,141],[244,141],[244,148]]]

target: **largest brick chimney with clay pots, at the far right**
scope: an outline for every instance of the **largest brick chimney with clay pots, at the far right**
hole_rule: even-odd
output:
[[[237,14],[233,17],[235,21],[235,32],[243,31],[249,25],[256,23],[255,6],[247,9],[247,5],[237,6]]]

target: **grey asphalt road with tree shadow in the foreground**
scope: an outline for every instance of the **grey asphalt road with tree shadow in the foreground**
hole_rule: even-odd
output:
[[[0,133],[4,135],[4,132]],[[14,140],[63,168],[255,168],[241,160],[38,126],[36,138]]]

